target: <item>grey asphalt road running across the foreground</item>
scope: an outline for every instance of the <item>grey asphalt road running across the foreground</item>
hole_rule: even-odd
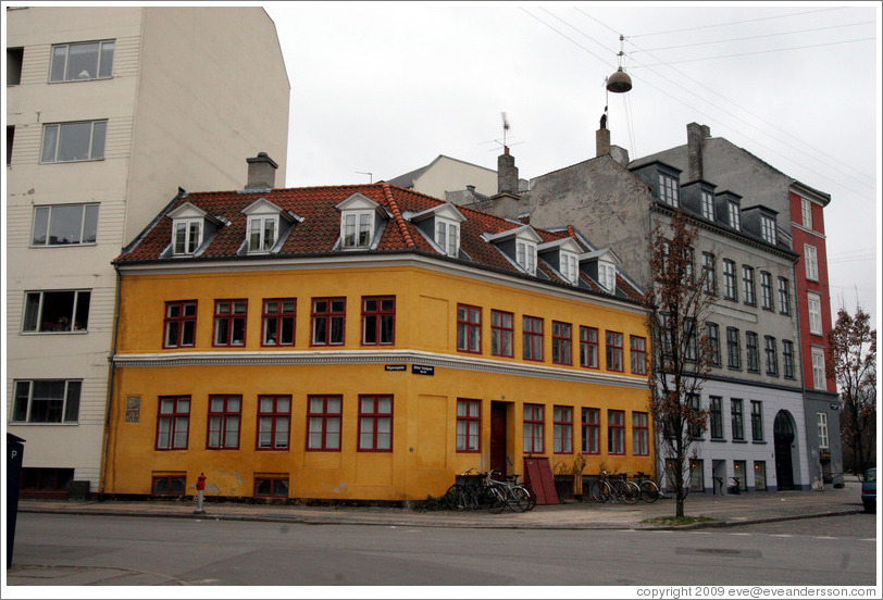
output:
[[[18,515],[16,585],[874,585],[874,515],[696,530]]]

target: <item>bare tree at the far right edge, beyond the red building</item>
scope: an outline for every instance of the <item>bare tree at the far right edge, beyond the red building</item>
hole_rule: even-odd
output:
[[[863,473],[873,463],[876,443],[876,329],[861,307],[855,316],[837,311],[828,349],[828,376],[836,379],[841,392],[844,458],[851,459],[853,473]]]

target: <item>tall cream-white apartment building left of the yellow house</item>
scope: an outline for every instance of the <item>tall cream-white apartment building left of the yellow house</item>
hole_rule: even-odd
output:
[[[8,432],[25,439],[23,493],[101,492],[111,261],[179,187],[241,189],[242,157],[266,152],[284,184],[290,86],[257,7],[3,20]]]

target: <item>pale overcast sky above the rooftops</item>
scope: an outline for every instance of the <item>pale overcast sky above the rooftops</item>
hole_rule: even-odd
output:
[[[523,178],[592,158],[608,101],[632,159],[695,121],[831,195],[832,312],[858,301],[876,321],[879,2],[263,5],[291,85],[287,186],[390,179],[438,154],[496,168],[502,112]],[[634,88],[608,98],[620,34]]]

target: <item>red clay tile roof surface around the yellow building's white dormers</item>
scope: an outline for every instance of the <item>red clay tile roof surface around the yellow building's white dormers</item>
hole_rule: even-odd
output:
[[[162,214],[130,243],[114,260],[116,264],[133,264],[144,262],[166,262],[173,259],[167,257],[165,250],[172,240],[172,218],[169,213],[184,203],[190,203],[207,214],[220,220],[226,225],[221,227],[211,238],[204,250],[195,258],[174,259],[175,262],[206,261],[219,259],[235,259],[248,261],[254,255],[239,254],[239,249],[246,240],[246,226],[248,217],[242,213],[242,209],[258,200],[264,198],[285,212],[294,213],[302,218],[294,225],[285,240],[283,247],[270,255],[259,254],[257,258],[285,258],[304,254],[325,254],[335,251],[340,235],[340,212],[335,208],[338,203],[351,197],[353,193],[361,193],[370,200],[376,202],[385,209],[391,218],[384,227],[383,235],[377,243],[376,250],[372,252],[385,251],[412,251],[435,254],[446,260],[447,257],[436,250],[420,228],[411,223],[406,215],[420,213],[439,205],[444,201],[413,190],[400,188],[387,183],[361,184],[349,186],[327,186],[327,187],[304,187],[273,189],[270,191],[210,191],[182,193],[176,200],[171,202]],[[460,224],[460,248],[469,257],[472,264],[480,267],[509,272],[524,275],[517,266],[508,260],[503,253],[493,243],[482,237],[483,234],[499,234],[511,229],[523,227],[522,223],[508,221],[489,213],[476,211],[467,207],[457,207],[467,220]],[[555,241],[563,238],[573,238],[583,251],[590,248],[583,243],[572,226],[567,230],[549,232],[534,227],[544,242]],[[548,280],[565,285],[565,282],[549,265],[539,261],[537,273],[542,273]],[[593,282],[585,274],[581,274],[581,280],[593,291],[605,293],[597,283]],[[618,278],[618,287],[630,300],[637,300],[639,291],[627,282]]]

